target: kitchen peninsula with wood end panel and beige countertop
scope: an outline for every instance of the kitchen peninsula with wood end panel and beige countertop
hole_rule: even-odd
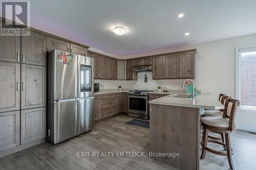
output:
[[[224,109],[212,94],[196,99],[170,98],[151,100],[150,148],[153,153],[179,153],[179,157],[152,157],[177,169],[200,169],[200,110]]]

